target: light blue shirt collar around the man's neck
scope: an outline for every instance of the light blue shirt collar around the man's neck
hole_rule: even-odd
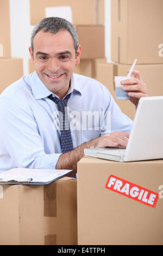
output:
[[[36,100],[43,99],[53,94],[50,90],[48,90],[45,84],[42,83],[40,78],[37,76],[36,71],[33,72],[32,77],[30,78],[30,84],[31,84],[32,93]],[[82,95],[77,78],[74,76],[74,74],[71,77],[71,87],[69,88],[67,94],[70,94],[70,93],[72,94],[80,93]]]

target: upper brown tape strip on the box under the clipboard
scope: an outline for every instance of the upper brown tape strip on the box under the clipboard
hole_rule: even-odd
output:
[[[43,190],[44,196],[44,211],[43,216],[45,217],[57,217],[57,184],[52,182],[51,184],[45,185]]]

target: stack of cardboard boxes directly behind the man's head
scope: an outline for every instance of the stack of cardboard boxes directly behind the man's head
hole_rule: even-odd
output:
[[[43,19],[46,16],[46,8],[49,7],[52,7],[54,11],[55,8],[63,8],[60,9],[63,12],[65,7],[71,9],[72,16],[70,20],[72,20],[73,25],[76,27],[79,44],[82,45],[80,64],[76,66],[74,72],[95,78],[97,74],[97,63],[106,62],[104,45],[104,0],[61,0],[59,2],[57,0],[30,0],[31,24],[36,25],[37,22]],[[29,72],[33,71],[34,67],[31,60],[29,60]]]

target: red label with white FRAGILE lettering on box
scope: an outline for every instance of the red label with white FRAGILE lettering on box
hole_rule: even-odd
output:
[[[123,180],[114,175],[110,175],[105,185],[108,190],[115,191],[123,196],[134,199],[143,204],[155,207],[159,194],[147,188],[143,188],[139,185],[131,183],[127,180]]]

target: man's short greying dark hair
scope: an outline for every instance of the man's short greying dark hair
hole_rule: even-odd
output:
[[[62,19],[60,17],[48,17],[45,18],[43,20],[41,20],[39,23],[36,24],[36,26],[33,29],[31,38],[30,38],[30,44],[31,44],[31,48],[32,51],[34,50],[33,47],[33,40],[35,35],[43,30],[43,32],[50,32],[52,34],[57,34],[60,29],[65,29],[66,31],[70,32],[73,41],[74,41],[74,48],[76,50],[78,50],[78,34],[76,29],[74,28],[74,26],[72,25],[72,23],[70,23],[69,21]]]

